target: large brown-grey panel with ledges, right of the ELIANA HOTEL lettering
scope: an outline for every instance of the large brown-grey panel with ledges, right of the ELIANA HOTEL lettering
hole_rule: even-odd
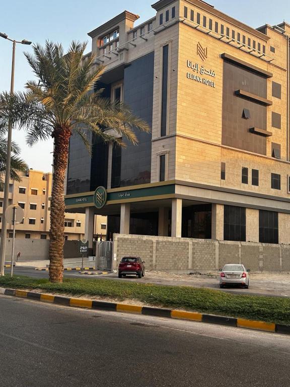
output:
[[[266,78],[225,60],[223,82],[222,144],[265,155],[266,137],[249,133],[249,129],[267,130],[267,107],[243,99],[235,92],[243,90],[267,98]],[[249,111],[249,118],[244,111]]]

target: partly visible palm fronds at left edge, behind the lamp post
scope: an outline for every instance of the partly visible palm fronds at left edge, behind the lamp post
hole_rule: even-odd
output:
[[[6,128],[0,127],[0,186],[3,186],[3,176],[6,172],[6,156],[7,156],[7,139],[5,137]],[[10,177],[13,180],[21,181],[18,172],[26,172],[28,165],[20,157],[20,148],[16,143],[11,146],[11,170]]]

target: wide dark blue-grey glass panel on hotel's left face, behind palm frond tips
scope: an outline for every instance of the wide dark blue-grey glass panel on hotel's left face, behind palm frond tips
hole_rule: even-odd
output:
[[[152,127],[154,52],[129,64],[124,70],[124,103]],[[150,183],[151,133],[137,132],[138,145],[123,139],[120,186]],[[113,172],[113,171],[112,171]]]

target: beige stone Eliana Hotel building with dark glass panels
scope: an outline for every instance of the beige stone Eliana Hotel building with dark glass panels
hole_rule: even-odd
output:
[[[108,216],[109,239],[289,244],[290,25],[255,29],[201,0],[152,7],[88,34],[104,95],[152,132],[124,149],[93,139],[92,159],[71,139],[67,211],[88,229]]]

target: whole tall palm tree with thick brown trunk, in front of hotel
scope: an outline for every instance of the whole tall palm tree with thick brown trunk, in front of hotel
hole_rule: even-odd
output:
[[[12,111],[14,124],[27,131],[30,146],[53,138],[53,183],[50,204],[49,279],[62,282],[64,244],[64,179],[68,159],[69,139],[79,136],[89,151],[90,133],[104,141],[124,146],[119,138],[136,144],[135,130],[148,132],[148,124],[135,117],[123,104],[102,98],[96,82],[104,73],[95,56],[82,58],[86,43],[72,42],[64,54],[61,44],[46,41],[45,47],[33,46],[34,54],[25,56],[37,77],[26,83],[25,93],[0,96],[1,115]],[[1,101],[8,101],[1,106]],[[113,128],[117,136],[109,136],[104,128]]]

